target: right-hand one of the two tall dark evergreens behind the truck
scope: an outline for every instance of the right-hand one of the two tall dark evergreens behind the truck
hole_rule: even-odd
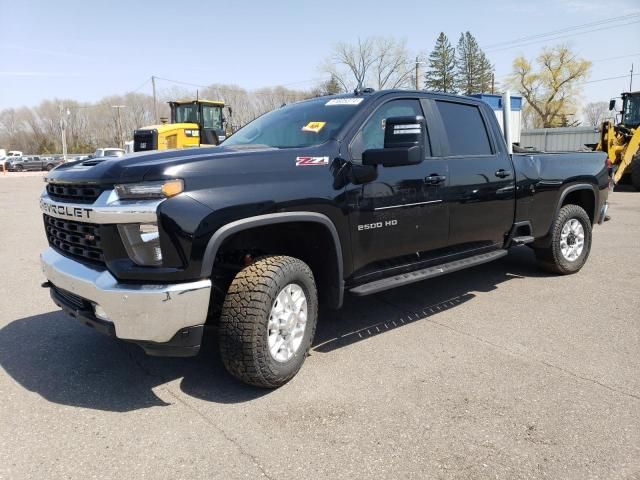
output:
[[[463,95],[491,91],[493,65],[471,32],[460,34],[456,49],[457,89]]]

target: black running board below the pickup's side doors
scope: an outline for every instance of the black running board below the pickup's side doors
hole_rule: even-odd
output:
[[[462,260],[455,260],[449,263],[443,263],[436,265],[435,267],[423,268],[422,270],[416,270],[414,272],[403,273],[393,277],[382,278],[370,283],[358,285],[349,290],[354,295],[371,295],[372,293],[382,292],[390,288],[401,287],[414,282],[420,282],[428,278],[438,277],[445,273],[456,272],[468,267],[474,267],[483,263],[491,262],[500,257],[504,257],[507,254],[506,250],[495,250],[489,253],[481,253],[474,255],[473,257],[464,258]]]

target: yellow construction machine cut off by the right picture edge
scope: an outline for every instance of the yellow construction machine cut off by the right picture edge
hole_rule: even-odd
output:
[[[614,98],[609,102],[609,110],[615,109]],[[622,94],[619,113],[619,123],[603,122],[596,150],[607,152],[616,183],[629,178],[635,189],[640,191],[640,91]]]

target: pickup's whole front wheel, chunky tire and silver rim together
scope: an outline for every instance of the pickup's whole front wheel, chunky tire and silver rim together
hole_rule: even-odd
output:
[[[315,334],[318,295],[302,260],[272,256],[240,271],[220,316],[220,354],[245,383],[276,388],[300,370]]]

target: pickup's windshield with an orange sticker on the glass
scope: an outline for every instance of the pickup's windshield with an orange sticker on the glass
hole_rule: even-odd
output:
[[[362,97],[325,97],[287,105],[258,117],[223,144],[275,148],[320,145],[335,137],[363,100]]]

